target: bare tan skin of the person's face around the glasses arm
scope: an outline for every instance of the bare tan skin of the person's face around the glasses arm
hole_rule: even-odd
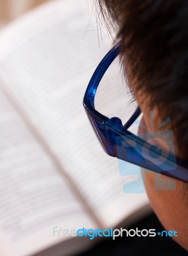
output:
[[[145,94],[141,92],[136,93],[134,91],[134,95],[143,113],[141,124],[148,127],[148,132],[152,132],[148,116],[148,111],[151,109],[148,108],[147,100],[145,100],[144,97]],[[152,110],[155,112],[155,129],[163,120],[160,118],[159,109],[154,108]],[[143,132],[141,127],[138,129],[138,136],[140,132]],[[163,146],[161,145],[161,147]],[[178,155],[177,150],[176,154]],[[177,231],[177,236],[173,236],[172,238],[175,239],[180,246],[185,248],[185,250],[188,250],[188,188],[185,189],[185,182],[166,177],[159,173],[148,172],[147,170],[143,170],[142,174],[145,189],[155,214],[167,231]],[[165,182],[166,187],[164,186],[164,188],[161,189],[160,184],[165,184]],[[171,184],[174,188],[169,189],[168,184]]]

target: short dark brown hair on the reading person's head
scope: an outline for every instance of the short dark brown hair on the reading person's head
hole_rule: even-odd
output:
[[[136,90],[170,116],[178,154],[188,160],[188,1],[98,0],[122,40],[122,62],[129,63]],[[129,76],[129,72],[128,72]],[[128,77],[129,79],[129,77]]]

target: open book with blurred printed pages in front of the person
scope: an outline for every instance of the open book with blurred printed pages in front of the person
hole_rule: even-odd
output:
[[[0,34],[1,256],[75,255],[94,241],[57,236],[55,227],[129,225],[149,211],[145,194],[123,193],[129,177],[101,149],[82,106],[112,47],[85,3],[51,1]],[[115,72],[106,95],[119,99]]]

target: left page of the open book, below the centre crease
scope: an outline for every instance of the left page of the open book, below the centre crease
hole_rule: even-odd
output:
[[[96,227],[1,90],[0,158],[0,255],[31,255],[66,241],[60,228]]]

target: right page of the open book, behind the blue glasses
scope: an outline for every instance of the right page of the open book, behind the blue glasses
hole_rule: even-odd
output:
[[[29,116],[106,227],[148,205],[148,200],[145,194],[123,193],[127,177],[120,176],[117,159],[101,149],[82,106],[94,69],[112,47],[93,15],[95,7],[88,11],[85,3],[52,1],[4,29],[0,68],[6,94]],[[115,74],[117,69],[106,78],[107,87],[111,98],[123,102],[125,87],[116,87]],[[117,111],[123,117],[126,106],[116,107],[112,115]]]

